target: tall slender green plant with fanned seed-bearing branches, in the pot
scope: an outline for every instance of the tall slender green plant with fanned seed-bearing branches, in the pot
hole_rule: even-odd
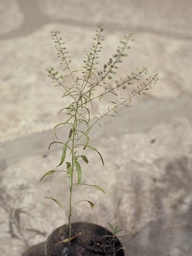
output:
[[[84,184],[81,183],[82,180],[82,168],[80,165],[79,159],[82,158],[86,164],[88,164],[88,158],[86,155],[80,155],[81,149],[83,150],[93,150],[98,153],[100,156],[101,162],[104,165],[104,161],[102,155],[96,148],[90,146],[89,144],[89,132],[90,130],[98,124],[100,125],[100,120],[105,116],[117,116],[119,115],[117,112],[117,108],[124,105],[128,107],[131,99],[136,96],[140,98],[141,94],[145,94],[146,90],[149,90],[152,84],[158,80],[157,74],[154,76],[150,76],[146,78],[146,82],[141,82],[140,79],[142,76],[148,73],[147,68],[143,67],[141,70],[136,70],[136,72],[132,72],[130,76],[126,76],[126,78],[119,80],[115,80],[113,76],[116,74],[115,70],[118,69],[118,65],[122,62],[122,58],[127,56],[126,52],[130,49],[128,46],[128,42],[132,39],[132,34],[128,34],[124,36],[124,40],[120,41],[120,46],[118,46],[115,54],[109,61],[104,64],[102,71],[96,73],[97,65],[98,65],[98,58],[101,52],[101,43],[104,40],[104,36],[102,36],[102,32],[104,28],[102,26],[98,27],[96,30],[96,36],[94,42],[92,44],[92,48],[90,49],[91,52],[86,54],[84,59],[84,66],[81,69],[81,76],[77,76],[76,72],[78,70],[72,71],[70,68],[70,56],[68,56],[68,51],[64,46],[64,42],[62,37],[59,36],[60,32],[52,31],[52,39],[56,43],[55,48],[58,51],[58,57],[61,58],[61,63],[64,64],[64,70],[66,71],[65,76],[59,75],[59,72],[55,72],[54,68],[46,68],[48,72],[48,77],[52,79],[53,82],[56,83],[55,86],[62,86],[64,89],[64,94],[62,98],[69,97],[70,104],[62,108],[60,112],[64,112],[66,114],[66,121],[60,124],[57,124],[54,128],[54,133],[56,138],[56,128],[59,126],[68,126],[69,132],[66,138],[66,141],[54,141],[50,144],[59,143],[62,145],[62,157],[61,161],[58,166],[64,164],[64,160],[66,158],[66,154],[70,156],[70,162],[65,162],[66,169],[65,170],[50,170],[42,176],[41,180],[47,176],[51,175],[55,172],[65,172],[68,176],[69,180],[69,190],[70,190],[70,197],[69,197],[69,211],[63,208],[63,206],[58,202],[56,199],[51,198],[54,200],[61,208],[64,210],[66,216],[68,217],[68,224],[69,224],[69,238],[68,242],[70,244],[71,238],[71,216],[72,210],[76,204],[82,201],[87,201],[91,208],[94,207],[94,203],[89,200],[80,200],[78,202],[72,202],[72,192],[74,186],[79,185],[87,185],[97,188],[101,190],[104,194],[104,190],[100,188],[98,185],[92,184]],[[63,80],[66,76],[70,76],[72,79],[72,86],[66,85]],[[135,80],[135,81],[134,81]],[[110,83],[109,83],[110,82]],[[113,86],[111,86],[113,82]],[[133,84],[137,82],[137,89],[132,89],[130,93],[124,92],[124,97],[122,98],[118,94],[121,90],[126,90]],[[110,86],[107,86],[110,84]],[[97,100],[100,101],[102,97],[106,96],[107,94],[111,94],[111,96],[116,97],[116,100],[109,102],[110,106],[106,109],[104,114],[98,113],[96,116],[92,116],[92,110],[94,109],[94,102]],[[92,118],[94,117],[94,118]],[[93,121],[94,120],[94,121]],[[49,149],[50,149],[49,146]],[[58,167],[56,166],[56,167]],[[49,197],[50,198],[50,197]]]

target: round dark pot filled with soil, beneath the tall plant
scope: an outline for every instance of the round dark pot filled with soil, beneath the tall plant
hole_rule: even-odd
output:
[[[68,225],[54,230],[46,241],[46,256],[114,256],[113,246],[121,246],[119,240],[102,238],[112,234],[101,226],[86,222],[72,223],[72,236],[70,247],[68,242],[60,242],[68,238]],[[57,244],[57,245],[56,245]],[[56,246],[55,246],[56,245]],[[116,256],[124,256],[123,250],[116,252]]]

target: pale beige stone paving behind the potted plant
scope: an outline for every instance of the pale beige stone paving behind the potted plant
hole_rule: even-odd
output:
[[[72,221],[118,224],[126,256],[192,255],[192,2],[190,0],[1,0],[0,2],[0,255],[43,255],[44,241],[67,222],[68,185],[62,173],[41,176],[60,161],[53,127],[64,107],[44,69],[61,70],[50,30],[60,30],[80,70],[96,26],[103,24],[102,65],[126,32],[135,41],[118,72],[125,77],[147,66],[160,81],[118,118],[92,131],[83,182],[98,184],[106,196],[78,187]],[[68,80],[66,80],[68,82]],[[95,112],[108,107],[106,98]],[[66,102],[68,103],[68,102]],[[68,130],[58,129],[60,137]],[[65,177],[64,177],[65,178]]]

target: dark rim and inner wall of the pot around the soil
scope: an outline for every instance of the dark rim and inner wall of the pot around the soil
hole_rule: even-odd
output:
[[[81,232],[80,236],[99,236],[100,240],[104,239],[102,236],[104,235],[112,235],[112,233],[107,230],[106,228],[99,226],[97,224],[93,223],[87,223],[87,222],[74,222],[71,224],[72,230],[75,230],[76,233]],[[64,240],[65,238],[68,238],[67,236],[64,236],[68,232],[68,224],[60,226],[59,228],[56,228],[52,233],[48,236],[45,244],[45,256],[51,256],[54,255],[52,254],[54,251],[54,245],[61,240]],[[95,244],[97,246],[98,241],[95,241]],[[60,246],[60,251],[62,251],[61,254],[58,255],[68,255],[67,250],[68,250],[68,243],[60,243],[57,246]],[[115,248],[120,248],[122,245],[120,241],[117,239],[115,242]],[[86,246],[85,246],[86,247]],[[65,253],[66,252],[66,253]],[[76,255],[76,254],[74,254]],[[107,255],[107,254],[103,254]],[[112,255],[112,254],[110,254]],[[124,251],[122,249],[118,250],[116,253],[116,256],[124,256]]]

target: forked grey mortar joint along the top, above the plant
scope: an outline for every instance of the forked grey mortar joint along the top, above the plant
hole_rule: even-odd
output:
[[[13,30],[8,34],[0,35],[0,40],[5,39],[13,39],[20,36],[28,36],[32,32],[38,30],[40,27],[50,24],[50,23],[63,23],[68,26],[76,26],[76,27],[83,27],[83,28],[95,28],[98,24],[90,24],[89,22],[80,22],[78,20],[69,20],[67,19],[56,19],[50,16],[46,16],[44,13],[41,12],[40,7],[38,6],[38,0],[33,1],[26,1],[26,0],[17,0],[18,6],[20,8],[20,12],[24,16],[24,22],[20,25],[19,28]],[[34,11],[34,12],[33,12]],[[115,32],[115,31],[125,31],[127,32],[127,25],[120,25],[116,23],[106,23],[104,24],[105,28],[108,32]],[[156,29],[149,29],[142,26],[129,26],[129,31],[134,33],[150,33],[158,36],[166,36],[172,39],[180,39],[186,40],[191,38],[184,38],[182,34],[174,33],[174,32],[166,32],[163,30],[156,30]]]

